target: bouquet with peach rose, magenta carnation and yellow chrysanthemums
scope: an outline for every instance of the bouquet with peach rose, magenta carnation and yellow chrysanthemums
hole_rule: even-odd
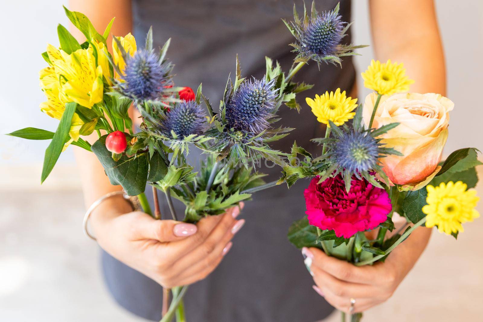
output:
[[[327,125],[325,137],[313,139],[321,155],[294,144],[281,179],[290,187],[311,178],[306,216],[290,227],[290,242],[302,252],[317,247],[355,266],[384,261],[419,226],[457,238],[463,223],[479,217],[479,198],[469,188],[482,164],[475,148],[440,162],[454,103],[440,94],[407,93],[413,81],[402,64],[372,60],[362,78],[375,91],[364,104],[341,89],[306,98],[317,121]],[[394,231],[395,213],[406,220],[405,230]],[[368,238],[369,232],[377,235]],[[310,258],[306,264],[310,271]],[[360,321],[354,303],[350,321]]]

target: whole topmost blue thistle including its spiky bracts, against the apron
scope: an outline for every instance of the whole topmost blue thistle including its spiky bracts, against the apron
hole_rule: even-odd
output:
[[[294,47],[293,51],[298,53],[296,63],[313,60],[318,65],[321,62],[341,65],[341,57],[357,55],[355,49],[366,47],[341,44],[351,24],[342,21],[339,4],[333,10],[319,14],[313,1],[311,11],[309,15],[304,3],[303,17],[300,18],[294,5],[294,21],[288,23],[284,20],[297,40],[290,44]]]

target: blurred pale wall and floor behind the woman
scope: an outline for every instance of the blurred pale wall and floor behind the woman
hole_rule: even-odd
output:
[[[455,102],[445,154],[469,146],[482,150],[483,1],[436,2],[448,97]],[[68,25],[65,3],[2,1],[0,133],[26,126],[55,130],[58,121],[39,111],[44,96],[38,71],[45,66],[40,53],[47,43],[58,43],[57,23]],[[354,0],[353,6],[355,43],[370,43],[367,1]],[[373,57],[370,47],[360,53],[359,72]],[[359,98],[368,93],[361,84],[359,90]],[[0,140],[0,320],[137,321],[108,297],[97,247],[82,235],[83,205],[78,176],[71,170],[71,149],[40,186],[47,145],[11,137]],[[481,185],[479,190],[483,196]],[[481,204],[479,210],[483,212]],[[482,222],[468,224],[457,243],[434,233],[426,255],[398,292],[383,307],[370,310],[366,321],[382,321],[376,318],[379,314],[392,321],[479,320]]]

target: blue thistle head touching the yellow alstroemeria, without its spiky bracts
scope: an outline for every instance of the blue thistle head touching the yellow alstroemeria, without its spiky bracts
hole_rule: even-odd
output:
[[[159,62],[153,51],[138,50],[126,62],[120,83],[124,94],[136,101],[155,100],[161,97],[163,86],[170,85],[171,65]]]

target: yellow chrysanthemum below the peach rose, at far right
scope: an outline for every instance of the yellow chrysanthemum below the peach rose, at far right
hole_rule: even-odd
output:
[[[480,213],[474,208],[480,198],[476,190],[466,188],[461,181],[441,182],[437,187],[427,185],[427,205],[422,209],[426,213],[426,227],[438,226],[440,233],[451,235],[464,231],[462,223],[478,218]]]

